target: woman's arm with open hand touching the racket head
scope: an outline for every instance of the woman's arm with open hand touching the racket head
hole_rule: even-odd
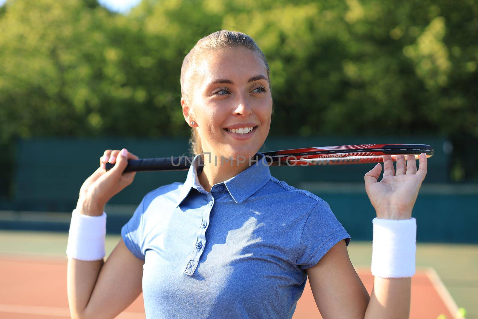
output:
[[[397,155],[395,171],[391,156],[384,155],[381,181],[378,181],[381,165],[376,165],[365,174],[365,190],[370,203],[375,208],[378,219],[393,220],[391,221],[393,225],[398,225],[395,224],[395,221],[411,219],[418,190],[427,172],[426,154],[420,154],[419,158],[420,167],[417,170],[414,155],[407,155],[406,160],[404,155]],[[391,233],[396,231],[393,230],[394,228],[391,228]],[[398,235],[398,233],[393,235]],[[381,238],[380,236],[382,235],[379,235],[379,238]],[[380,241],[380,239],[378,240]],[[408,250],[409,254],[410,252],[414,253],[415,238],[413,241],[400,241],[392,244],[406,245],[403,247],[404,251]],[[378,260],[386,258],[390,262],[397,258],[393,252],[388,256],[383,256],[382,254],[389,253],[387,250],[381,249],[377,253]],[[410,258],[412,257],[410,256]],[[414,255],[413,260],[409,259],[408,261],[414,262]],[[386,274],[383,277],[394,277],[388,274],[397,271],[396,269],[383,269],[384,266],[380,263],[375,265],[376,273]],[[307,269],[315,302],[324,318],[408,318],[411,290],[411,277],[408,275],[413,275],[414,264],[413,272],[407,269],[404,273],[406,275],[402,278],[382,278],[376,275],[372,294],[369,297],[350,262],[345,241],[338,242],[315,266]]]

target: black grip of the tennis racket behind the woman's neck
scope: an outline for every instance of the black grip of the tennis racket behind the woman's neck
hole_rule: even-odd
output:
[[[128,165],[123,173],[127,172],[150,172],[150,171],[185,171],[191,166],[190,156],[171,156],[156,158],[141,158],[128,160]],[[114,164],[106,163],[106,170],[113,168]]]

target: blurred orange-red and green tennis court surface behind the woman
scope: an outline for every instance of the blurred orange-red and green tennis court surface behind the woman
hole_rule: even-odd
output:
[[[7,238],[10,245],[6,242]],[[33,238],[36,240],[32,242]],[[2,287],[0,318],[69,318],[66,296],[66,257],[62,257],[66,238],[65,234],[0,231],[0,286]],[[118,240],[119,236],[107,236],[107,255]],[[43,247],[43,253],[38,247]],[[355,254],[360,255],[360,258],[364,260],[368,258],[364,253],[367,247],[367,243],[362,243],[361,246],[360,243],[356,243],[355,246],[349,245],[350,257],[354,265],[356,264],[354,259],[359,258],[354,258]],[[352,253],[353,249],[356,249],[355,253]],[[477,253],[476,246],[474,249],[472,253]],[[417,261],[420,251],[421,249],[417,249]],[[373,285],[370,269],[356,266],[356,270],[370,293]],[[476,292],[476,288],[473,293]],[[462,304],[460,307],[467,308]],[[410,318],[436,319],[443,313],[451,319],[454,318],[452,313],[456,313],[456,308],[456,301],[435,269],[417,266],[417,273],[412,277]],[[470,317],[473,309],[468,307],[467,310],[467,318],[475,318]],[[117,318],[145,318],[142,295]],[[293,318],[321,318],[308,282]]]

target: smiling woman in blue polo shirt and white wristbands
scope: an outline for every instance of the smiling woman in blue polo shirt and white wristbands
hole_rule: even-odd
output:
[[[411,213],[425,154],[418,172],[414,157],[407,166],[398,156],[395,172],[384,156],[382,180],[380,163],[365,175],[378,217],[370,297],[348,258],[350,236],[329,205],[271,176],[258,153],[272,95],[254,41],[226,30],[199,40],[185,57],[181,93],[195,154],[186,181],[141,200],[106,262],[103,209],[133,181],[134,172],[122,172],[138,157],[106,150],[81,187],[66,251],[72,318],[114,318],[141,291],[147,318],[292,318],[307,276],[324,318],[408,318]],[[107,161],[115,164],[108,172]]]

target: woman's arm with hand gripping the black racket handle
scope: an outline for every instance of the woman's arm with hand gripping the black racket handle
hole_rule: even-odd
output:
[[[107,172],[105,165],[110,158],[110,163],[115,165]],[[100,157],[100,166],[80,188],[76,209],[81,214],[100,216],[105,203],[133,182],[136,172],[123,173],[128,165],[128,159],[139,157],[126,149],[122,149],[121,152],[120,150],[104,152]],[[75,221],[72,219],[73,222]],[[73,228],[75,227],[78,227],[78,224]],[[71,230],[72,225],[69,234],[72,237],[68,237],[66,278],[71,317],[115,318],[141,293],[144,261],[136,258],[128,250],[122,238],[106,262],[103,259],[87,261],[88,258],[80,258],[85,255],[82,249],[87,250],[92,244],[97,243],[92,243],[91,236],[88,236],[84,229],[79,232]],[[104,231],[106,232],[106,229]],[[104,242],[102,244],[104,245]],[[82,247],[78,249],[81,253],[76,250],[77,246]]]

